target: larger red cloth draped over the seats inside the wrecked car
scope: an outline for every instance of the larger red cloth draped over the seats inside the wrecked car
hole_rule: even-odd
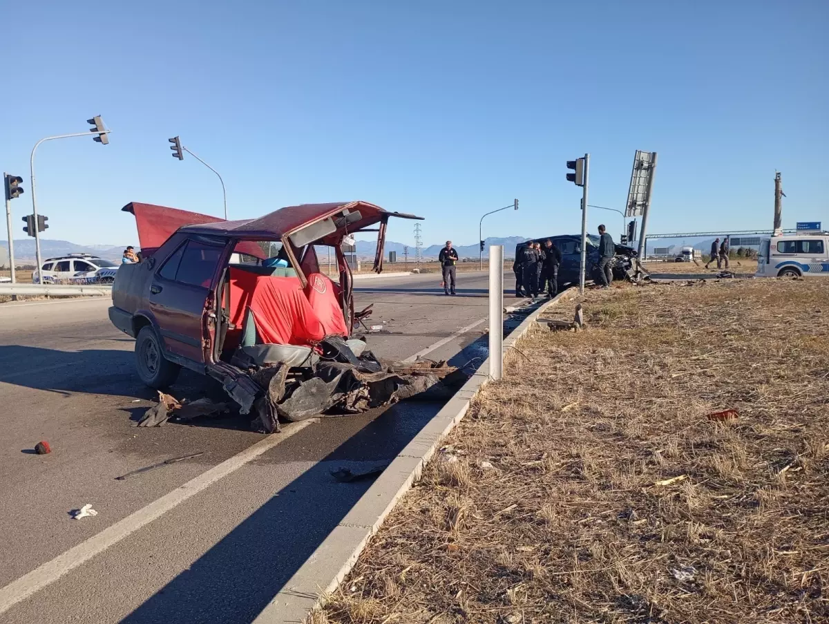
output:
[[[308,303],[298,277],[256,275],[231,266],[230,322],[239,329],[232,336],[228,334],[225,348],[239,343],[248,308],[263,344],[313,345],[328,333]]]

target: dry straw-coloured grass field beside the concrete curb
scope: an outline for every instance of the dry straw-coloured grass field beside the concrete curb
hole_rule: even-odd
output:
[[[457,461],[427,466],[317,622],[829,621],[821,281],[589,292],[589,329],[507,357]]]

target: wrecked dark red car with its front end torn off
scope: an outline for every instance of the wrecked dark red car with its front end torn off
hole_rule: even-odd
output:
[[[120,266],[109,319],[136,339],[138,375],[164,388],[190,368],[218,380],[245,414],[266,389],[252,371],[312,366],[332,348],[360,356],[343,238],[378,232],[379,273],[389,218],[422,218],[368,202],[242,221],[137,202],[123,210],[135,216],[142,257]],[[315,246],[333,248],[339,283],[320,271]]]

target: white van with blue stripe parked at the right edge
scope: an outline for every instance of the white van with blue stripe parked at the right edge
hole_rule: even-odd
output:
[[[829,276],[829,232],[783,234],[760,241],[756,277]]]

